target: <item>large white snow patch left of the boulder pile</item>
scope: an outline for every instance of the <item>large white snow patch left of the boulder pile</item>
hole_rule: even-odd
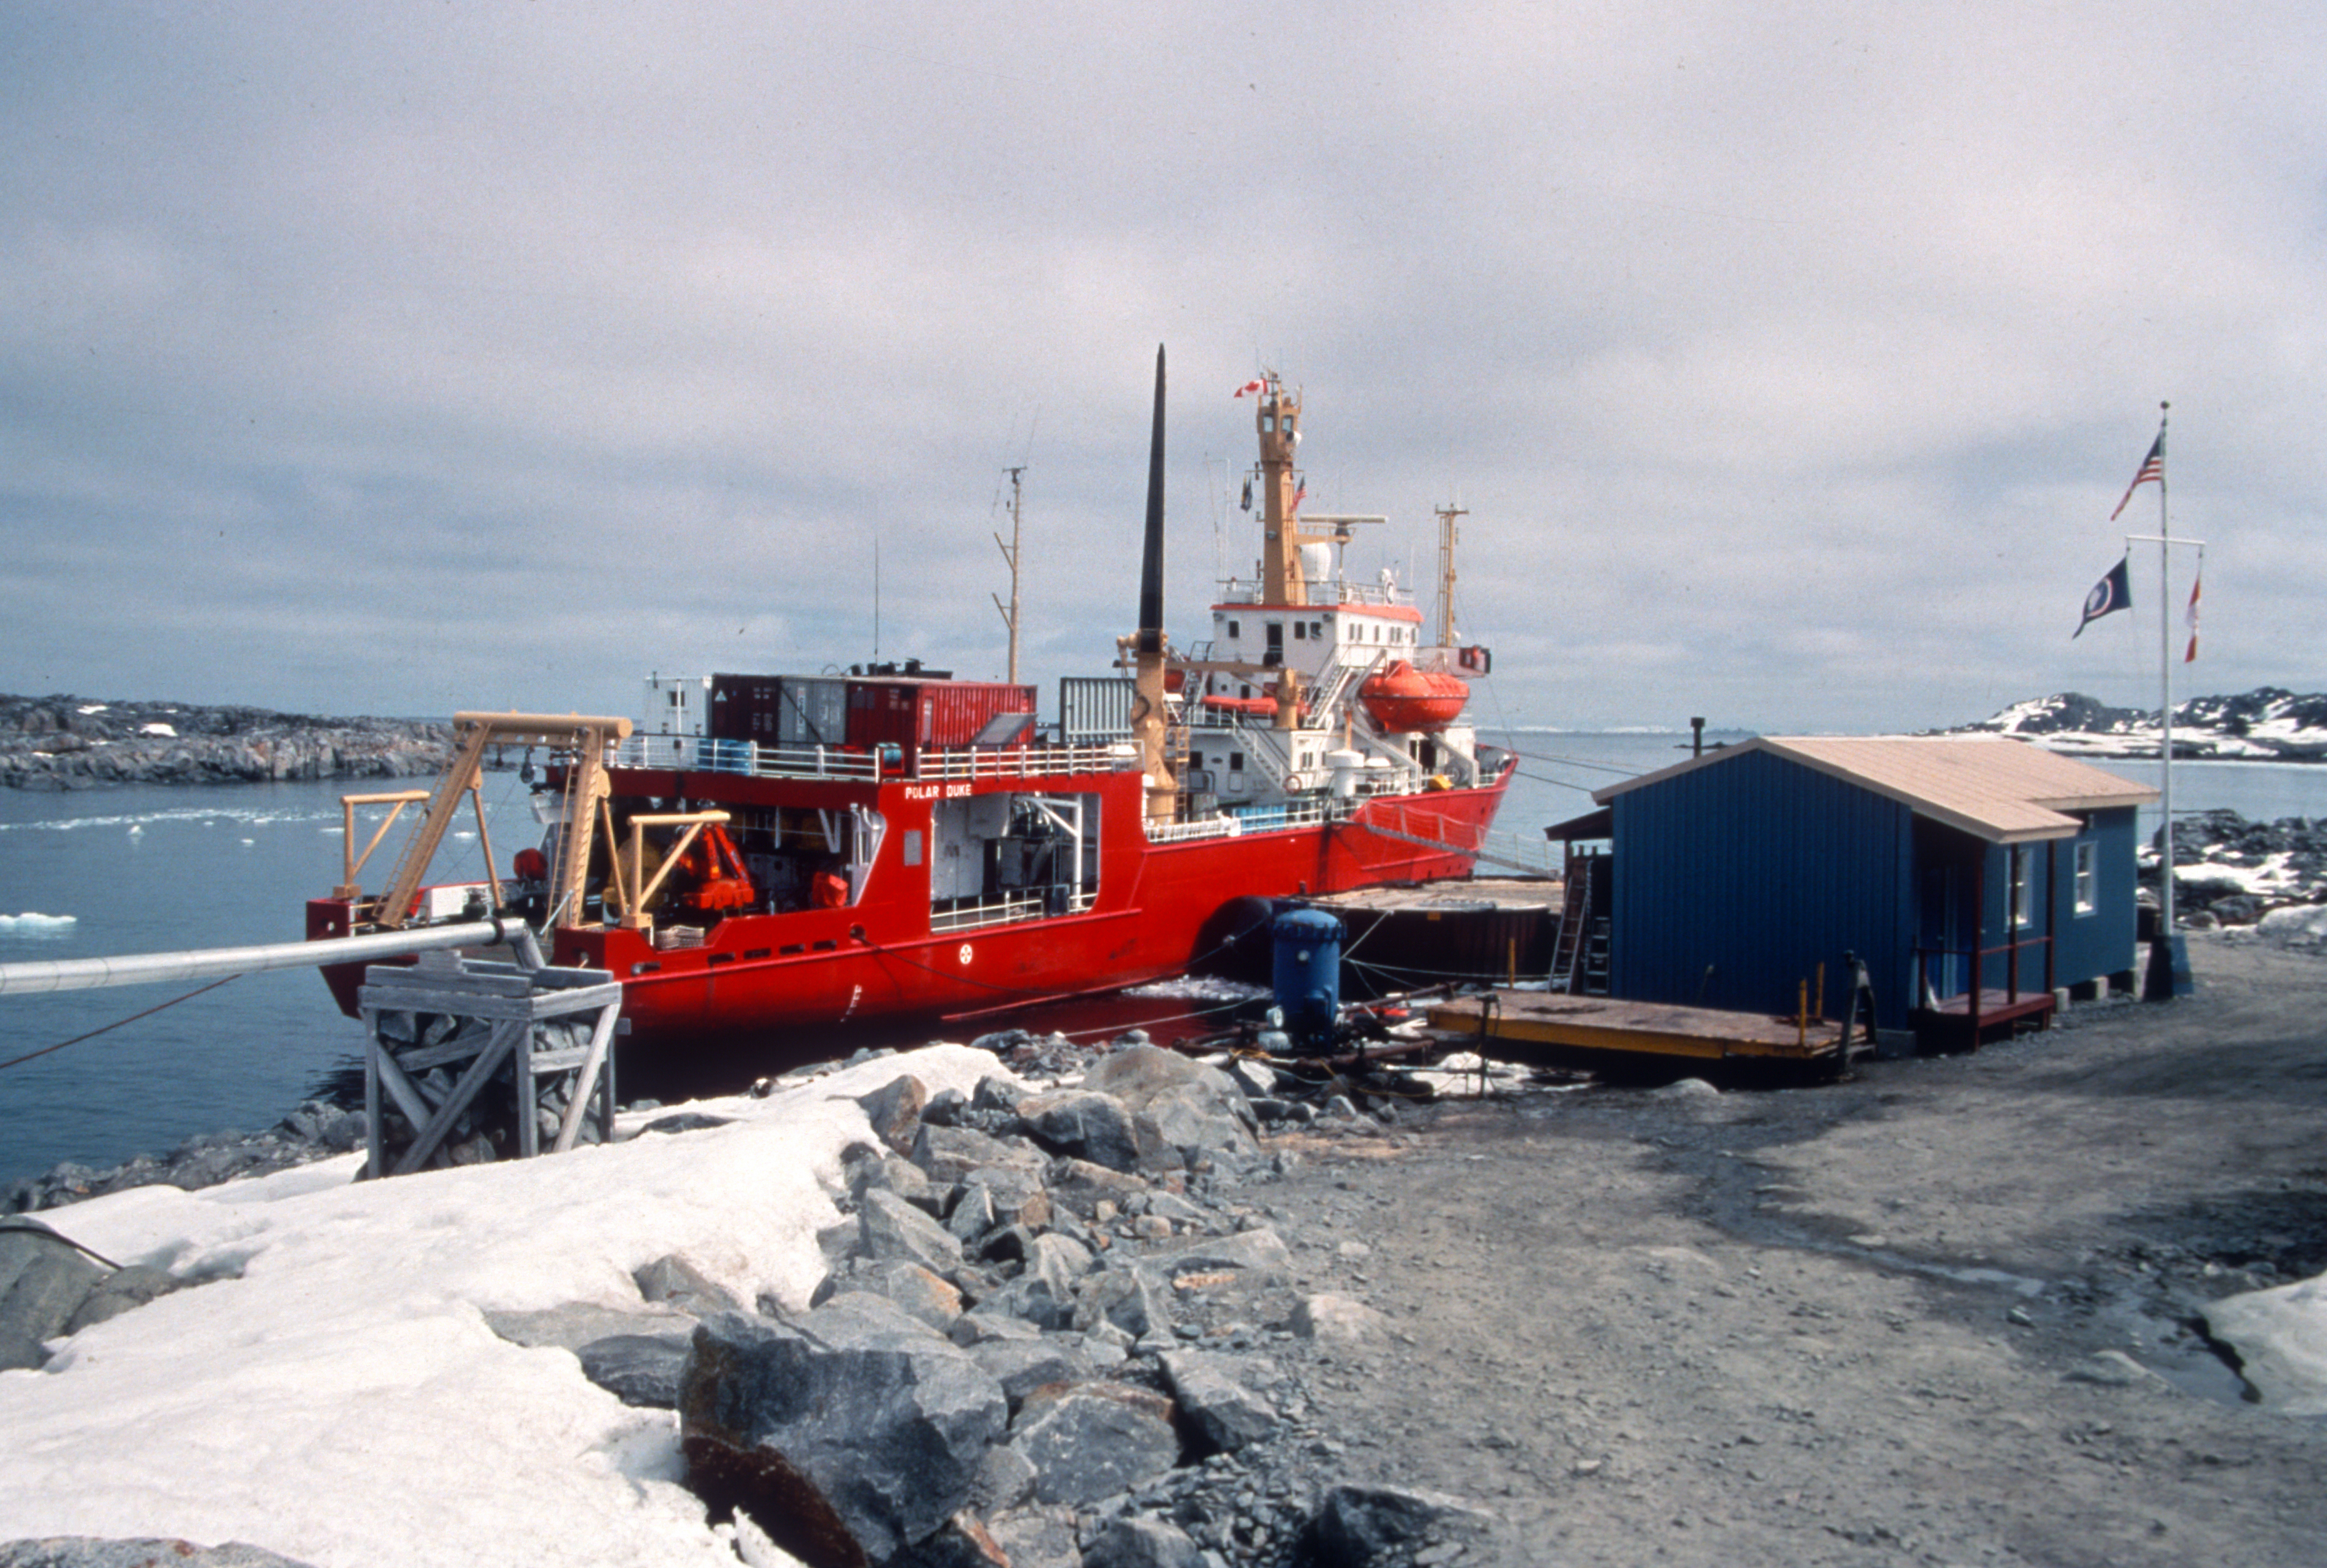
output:
[[[621,1405],[570,1352],[510,1345],[484,1312],[638,1307],[631,1270],[668,1252],[745,1300],[805,1307],[840,1152],[870,1138],[852,1096],[903,1072],[931,1093],[1010,1077],[935,1045],[696,1103],[731,1119],[698,1133],[363,1184],[349,1154],[74,1205],[61,1228],[109,1259],[237,1277],[0,1373],[0,1540],[251,1540],[316,1568],[372,1568],[382,1542],[447,1568],[733,1568],[731,1535],[679,1487],[670,1412]]]

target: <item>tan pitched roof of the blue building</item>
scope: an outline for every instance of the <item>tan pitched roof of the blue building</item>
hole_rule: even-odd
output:
[[[2157,798],[2148,784],[2008,735],[1759,735],[1596,789],[1592,798],[1608,805],[1643,784],[1745,751],[1773,751],[1992,844],[2069,838],[2080,824],[2066,812],[2148,805]]]

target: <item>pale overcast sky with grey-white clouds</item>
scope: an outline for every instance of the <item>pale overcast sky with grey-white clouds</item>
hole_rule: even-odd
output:
[[[1250,572],[1233,389],[1482,721],[2327,689],[2327,7],[0,9],[0,691],[635,712],[1026,677]],[[2190,554],[2173,598],[2187,596]],[[2176,642],[2180,605],[2176,603]],[[1045,710],[1052,696],[1045,696]]]

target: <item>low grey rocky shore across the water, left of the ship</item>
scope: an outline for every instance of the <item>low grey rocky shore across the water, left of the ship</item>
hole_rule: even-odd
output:
[[[403,779],[451,756],[451,726],[265,707],[0,696],[0,786]]]

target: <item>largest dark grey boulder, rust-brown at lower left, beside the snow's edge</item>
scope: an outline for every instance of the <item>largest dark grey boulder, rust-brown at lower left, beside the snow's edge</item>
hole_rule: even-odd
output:
[[[817,1568],[882,1568],[935,1535],[1008,1419],[968,1352],[861,1293],[791,1324],[707,1319],[679,1394],[696,1494]]]

